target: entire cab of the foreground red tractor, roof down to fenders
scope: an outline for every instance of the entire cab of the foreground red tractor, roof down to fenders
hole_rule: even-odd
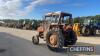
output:
[[[52,28],[62,28],[64,27],[66,29],[66,25],[72,25],[72,14],[65,13],[65,12],[52,12],[47,13],[45,15],[46,24],[50,26],[49,29]],[[72,26],[70,26],[72,28]]]

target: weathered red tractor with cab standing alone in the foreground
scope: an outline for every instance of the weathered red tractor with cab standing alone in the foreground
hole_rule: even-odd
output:
[[[36,35],[32,37],[33,44],[38,45],[40,38],[46,41],[47,47],[51,50],[74,45],[77,35],[73,31],[72,14],[60,11],[47,13],[37,28]]]

